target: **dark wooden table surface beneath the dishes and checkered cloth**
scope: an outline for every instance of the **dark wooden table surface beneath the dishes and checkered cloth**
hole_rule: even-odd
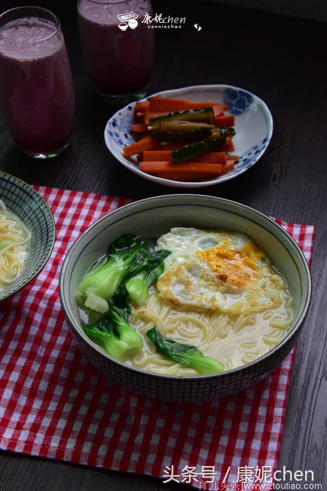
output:
[[[327,486],[327,26],[217,3],[197,3],[198,8],[185,1],[154,2],[155,12],[186,16],[187,25],[181,30],[156,31],[156,62],[149,92],[228,83],[258,95],[271,109],[274,135],[260,162],[235,180],[192,192],[222,196],[286,221],[318,226],[311,267],[313,299],[296,350],[279,467],[313,470],[315,482]],[[0,113],[1,170],[30,184],[136,199],[183,192],[143,180],[114,160],[105,147],[103,129],[116,108],[104,103],[88,81],[75,2],[39,4],[53,10],[62,21],[77,100],[73,140],[60,157],[34,161],[15,147]],[[13,6],[11,0],[4,0],[1,8]],[[195,23],[202,31],[193,28]],[[1,491],[167,490],[176,486],[143,476],[0,454]]]

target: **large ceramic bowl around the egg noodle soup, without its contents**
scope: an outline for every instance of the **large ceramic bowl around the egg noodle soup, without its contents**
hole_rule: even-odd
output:
[[[293,296],[294,320],[286,337],[261,358],[214,375],[168,376],[135,369],[110,358],[84,333],[75,300],[89,265],[125,232],[160,236],[172,227],[225,229],[248,234],[285,276]],[[73,337],[85,357],[121,386],[150,398],[201,401],[223,397],[262,380],[286,358],[307,313],[311,279],[307,261],[293,238],[273,220],[247,206],[214,196],[157,196],[123,206],[91,225],[72,245],[62,265],[60,301]]]

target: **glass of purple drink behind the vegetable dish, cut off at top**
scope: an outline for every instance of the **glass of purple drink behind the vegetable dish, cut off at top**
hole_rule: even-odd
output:
[[[152,14],[150,0],[78,0],[86,68],[110,102],[146,95],[154,57],[154,30],[142,23],[146,14]]]

